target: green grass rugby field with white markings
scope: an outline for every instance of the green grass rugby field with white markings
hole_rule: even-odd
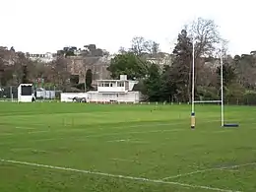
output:
[[[256,108],[0,103],[1,192],[256,191]]]

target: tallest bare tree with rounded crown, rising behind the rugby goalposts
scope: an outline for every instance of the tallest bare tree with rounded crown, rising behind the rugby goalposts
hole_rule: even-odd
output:
[[[198,18],[189,25],[185,26],[191,40],[195,44],[195,82],[196,85],[210,86],[206,81],[213,79],[216,82],[215,74],[212,70],[216,69],[216,57],[220,58],[225,54],[227,49],[227,41],[222,38],[219,27],[215,24],[214,20],[207,20]],[[207,62],[205,59],[211,59]],[[192,58],[191,58],[192,63]],[[205,77],[208,74],[209,77]],[[210,77],[211,76],[211,77]]]

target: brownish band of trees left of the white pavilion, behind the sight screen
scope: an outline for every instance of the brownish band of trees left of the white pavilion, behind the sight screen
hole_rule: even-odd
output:
[[[15,51],[14,47],[8,49],[0,46],[0,88],[18,87],[20,84],[33,84],[39,88],[51,88],[63,92],[81,92],[85,84],[79,84],[78,75],[71,72],[68,57],[103,56],[105,53],[93,44],[86,45],[77,55],[77,47],[64,47],[58,50],[55,59],[43,62],[40,59],[31,59],[29,53]],[[92,89],[92,70],[86,72],[86,88]]]

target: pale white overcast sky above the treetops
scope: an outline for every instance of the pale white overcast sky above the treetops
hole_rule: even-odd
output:
[[[32,53],[96,43],[115,52],[135,35],[170,52],[197,17],[213,19],[233,54],[256,49],[255,0],[0,0],[0,45]]]

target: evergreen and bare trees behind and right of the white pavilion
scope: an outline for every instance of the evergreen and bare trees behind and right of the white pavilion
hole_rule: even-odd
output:
[[[224,99],[228,103],[256,104],[256,52],[227,55],[227,41],[213,20],[199,18],[179,32],[169,65],[149,62],[145,55],[160,53],[159,44],[135,37],[129,49],[122,48],[111,60],[108,70],[136,79],[135,87],[150,101],[190,102],[192,53],[194,43],[195,97],[217,100],[221,97],[221,56],[224,61]]]

